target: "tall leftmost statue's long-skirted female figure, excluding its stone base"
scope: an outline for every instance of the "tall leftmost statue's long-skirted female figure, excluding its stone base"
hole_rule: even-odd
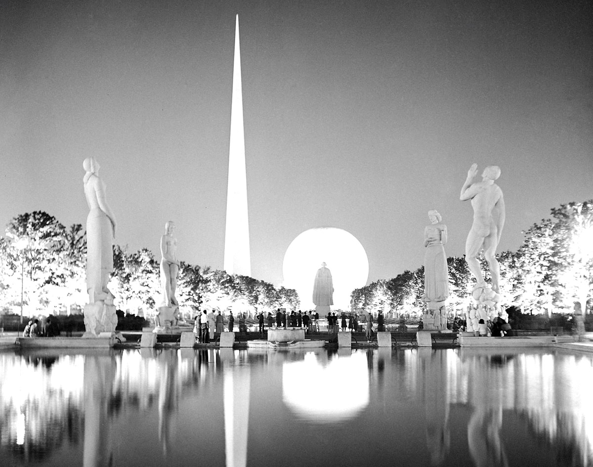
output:
[[[90,212],[87,216],[87,292],[89,303],[104,300],[109,294],[107,282],[113,271],[113,238],[116,220],[105,197],[105,184],[99,178],[99,164],[94,157],[82,163],[85,173],[84,195]]]

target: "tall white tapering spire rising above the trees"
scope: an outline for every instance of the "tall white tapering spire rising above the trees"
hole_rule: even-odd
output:
[[[224,270],[228,274],[251,276],[239,15],[237,15],[235,21],[235,60],[232,69],[231,142],[228,155],[227,230],[225,231]]]

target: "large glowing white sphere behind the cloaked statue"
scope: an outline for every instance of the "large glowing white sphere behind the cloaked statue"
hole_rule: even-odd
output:
[[[282,263],[283,285],[297,290],[302,310],[315,308],[313,284],[321,263],[327,263],[333,278],[332,309],[349,309],[350,294],[366,285],[369,274],[369,260],[361,242],[336,227],[311,228],[292,240]]]

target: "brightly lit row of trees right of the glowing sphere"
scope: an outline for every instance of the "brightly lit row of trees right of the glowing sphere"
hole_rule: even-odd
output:
[[[551,209],[544,219],[524,231],[517,252],[497,255],[501,293],[506,304],[530,313],[543,310],[572,310],[579,301],[582,309],[593,293],[593,200],[569,203]],[[482,257],[482,270],[489,270]],[[462,309],[470,300],[475,281],[464,258],[447,259],[449,306]],[[352,292],[352,309],[366,306],[388,311],[422,309],[424,269],[404,271],[385,281],[380,279]],[[590,307],[589,307],[590,309]]]

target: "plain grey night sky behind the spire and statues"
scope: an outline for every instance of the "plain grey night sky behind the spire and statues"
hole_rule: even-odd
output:
[[[500,250],[593,198],[590,1],[0,2],[0,224],[85,224],[94,156],[116,243],[221,269],[239,14],[253,277],[308,228],[352,233],[369,281],[460,256],[467,169],[498,164]],[[331,268],[331,265],[328,265]],[[314,271],[313,271],[314,273]]]

